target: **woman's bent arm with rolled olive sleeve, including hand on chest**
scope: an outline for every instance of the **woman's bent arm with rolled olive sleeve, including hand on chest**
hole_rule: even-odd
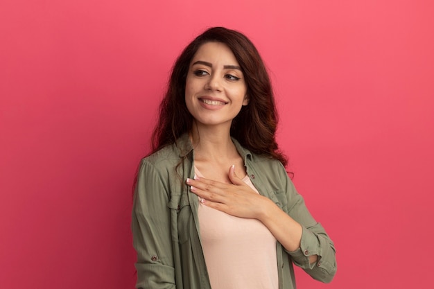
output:
[[[277,163],[273,163],[273,166]],[[284,191],[278,201],[282,209],[269,198],[258,195],[229,169],[232,184],[209,179],[187,179],[191,191],[203,204],[241,218],[256,218],[263,222],[284,246],[295,265],[314,279],[329,282],[336,272],[335,249],[322,226],[313,219],[301,195],[295,191],[286,170],[279,163],[273,168],[277,182]]]

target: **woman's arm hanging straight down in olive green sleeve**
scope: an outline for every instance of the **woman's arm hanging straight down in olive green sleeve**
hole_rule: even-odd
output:
[[[132,236],[137,252],[136,288],[175,288],[171,218],[164,179],[153,164],[141,161],[132,208]]]

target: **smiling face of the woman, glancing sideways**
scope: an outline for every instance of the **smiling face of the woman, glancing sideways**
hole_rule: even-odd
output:
[[[234,53],[226,44],[202,44],[186,77],[185,103],[198,125],[231,125],[248,104],[247,85]]]

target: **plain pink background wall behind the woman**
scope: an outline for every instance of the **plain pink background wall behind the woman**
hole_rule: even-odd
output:
[[[0,288],[133,288],[132,179],[180,50],[243,31],[336,243],[324,285],[431,288],[434,2],[2,0]]]

